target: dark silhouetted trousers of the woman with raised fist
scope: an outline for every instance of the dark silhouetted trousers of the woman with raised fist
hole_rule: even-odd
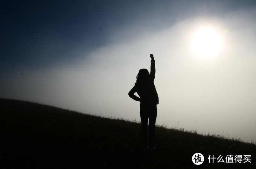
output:
[[[149,122],[149,147],[155,144],[155,120],[157,119],[157,105],[140,103],[140,119],[141,119],[141,139],[142,146],[147,145],[147,127]]]

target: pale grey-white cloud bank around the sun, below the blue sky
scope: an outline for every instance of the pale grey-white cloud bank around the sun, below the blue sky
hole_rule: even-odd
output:
[[[130,26],[117,32],[108,45],[90,52],[78,48],[77,55],[84,57],[69,65],[2,74],[0,97],[139,120],[139,103],[128,92],[139,69],[150,69],[153,53],[158,124],[172,127],[180,121],[179,127],[187,130],[196,126],[199,132],[224,132],[250,141],[256,127],[255,17],[251,9],[223,18],[189,18],[157,31]],[[202,21],[228,29],[222,53],[212,59],[195,57],[189,50],[189,36]]]

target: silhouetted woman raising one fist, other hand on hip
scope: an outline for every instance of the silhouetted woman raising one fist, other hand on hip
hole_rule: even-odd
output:
[[[129,96],[136,101],[140,101],[140,119],[141,119],[141,139],[143,149],[148,148],[147,144],[147,126],[149,121],[149,149],[155,149],[155,120],[157,118],[158,95],[155,89],[155,60],[153,54],[150,54],[151,66],[150,74],[147,69],[140,69],[137,74],[137,80],[134,87],[129,92]],[[137,92],[139,97],[134,95]]]

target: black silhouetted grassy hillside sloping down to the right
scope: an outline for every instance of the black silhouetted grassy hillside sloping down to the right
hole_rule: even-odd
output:
[[[0,168],[256,168],[256,145],[156,128],[155,151],[140,149],[140,124],[25,101],[0,99]],[[193,154],[204,155],[200,166]],[[209,155],[225,163],[209,163]],[[251,163],[226,163],[251,155]],[[243,157],[244,158],[244,157]]]

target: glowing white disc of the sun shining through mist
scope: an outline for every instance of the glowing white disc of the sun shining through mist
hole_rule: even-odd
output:
[[[219,53],[222,47],[220,33],[210,27],[197,29],[192,35],[191,48],[195,55],[212,57]]]

